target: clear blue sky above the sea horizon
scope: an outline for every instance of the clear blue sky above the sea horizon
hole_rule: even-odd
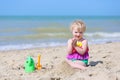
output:
[[[1,0],[0,15],[120,16],[120,0]]]

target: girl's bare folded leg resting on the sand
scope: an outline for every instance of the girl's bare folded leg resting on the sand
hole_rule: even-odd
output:
[[[85,64],[82,61],[71,61],[66,59],[67,63],[73,67],[73,68],[78,68],[78,69],[86,69]]]

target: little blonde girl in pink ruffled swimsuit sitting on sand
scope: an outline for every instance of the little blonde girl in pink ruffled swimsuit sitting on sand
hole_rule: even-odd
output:
[[[83,38],[86,30],[85,24],[80,21],[74,21],[70,26],[73,38],[68,40],[67,62],[73,68],[85,69],[88,64],[88,42]],[[77,44],[80,44],[79,46]]]

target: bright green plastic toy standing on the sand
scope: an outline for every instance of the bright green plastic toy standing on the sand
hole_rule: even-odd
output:
[[[32,57],[28,57],[26,62],[25,62],[25,72],[33,72],[35,70],[35,63]]]

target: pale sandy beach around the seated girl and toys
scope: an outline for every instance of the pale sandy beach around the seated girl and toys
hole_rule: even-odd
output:
[[[0,51],[0,80],[120,80],[120,43],[89,45],[90,59],[86,70],[72,69],[66,62],[66,47]],[[24,71],[30,55],[41,70]]]

